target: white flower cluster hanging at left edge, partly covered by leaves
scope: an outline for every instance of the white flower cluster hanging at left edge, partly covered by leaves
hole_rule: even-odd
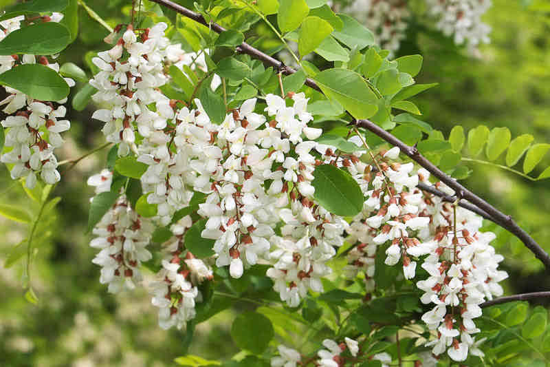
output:
[[[21,28],[24,16],[0,21],[0,41],[11,32]],[[53,13],[52,16],[39,17],[37,21],[59,22],[63,14]],[[32,54],[0,56],[0,73],[6,72],[17,65],[41,63],[59,72],[58,63],[52,63],[46,56]],[[74,86],[71,78],[65,78],[69,86]],[[0,158],[0,161],[9,165],[12,179],[25,177],[25,185],[32,189],[40,177],[47,184],[53,185],[61,179],[57,171],[57,158],[54,149],[63,145],[61,133],[71,127],[69,120],[63,120],[67,109],[63,101],[38,101],[30,96],[3,87],[8,97],[0,101],[3,112],[7,114],[0,123],[8,128],[5,134],[5,146],[12,149]]]

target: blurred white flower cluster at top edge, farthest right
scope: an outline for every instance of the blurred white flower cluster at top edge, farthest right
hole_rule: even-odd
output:
[[[454,43],[467,42],[470,49],[479,43],[489,43],[489,25],[481,17],[491,7],[490,0],[426,0],[430,14],[437,19],[436,27],[453,36]]]

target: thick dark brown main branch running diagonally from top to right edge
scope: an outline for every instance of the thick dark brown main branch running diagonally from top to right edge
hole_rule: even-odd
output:
[[[173,1],[170,1],[170,0],[151,0],[151,1],[155,3],[159,3],[162,6],[166,6],[166,8],[175,10],[175,12],[178,12],[179,14],[182,14],[185,17],[188,17],[190,19],[193,19],[194,21],[197,21],[198,23],[206,25],[207,27],[214,30],[214,32],[221,33],[225,31],[225,28],[221,27],[221,25],[217,23],[208,23],[201,14],[192,12],[191,10],[184,8],[183,6],[180,6],[179,4],[174,3]],[[260,50],[253,48],[248,43],[245,43],[245,42],[241,43],[241,45],[237,46],[236,51],[242,54],[248,54],[252,56],[254,59],[261,60],[266,65],[271,65],[275,67],[277,70],[281,70],[283,74],[293,74],[294,72],[296,72],[296,70],[292,69],[292,67],[285,66],[283,63],[281,63],[281,61],[278,61],[274,59],[272,56],[269,56],[261,52]],[[320,91],[320,88],[312,79],[307,78],[306,84],[309,87],[312,87],[315,90]],[[357,120],[354,123],[358,127],[368,129],[369,131],[373,132],[377,136],[380,136],[380,138],[386,140],[386,142],[390,143],[391,145],[394,145],[395,147],[399,147],[402,153],[412,158],[412,160],[414,160],[419,165],[421,165],[422,167],[430,171],[432,175],[439,178],[441,182],[444,182],[446,185],[448,185],[448,187],[453,189],[458,198],[469,201],[472,205],[478,207],[478,209],[481,209],[481,211],[486,213],[488,218],[490,218],[490,220],[500,225],[500,227],[507,229],[507,231],[509,231],[510,233],[516,235],[516,237],[519,238],[529,250],[531,250],[531,252],[536,256],[536,258],[538,258],[538,260],[540,260],[544,264],[544,266],[550,269],[550,255],[546,251],[544,251],[542,247],[540,247],[537,244],[537,242],[533,240],[533,238],[531,238],[531,236],[527,232],[521,229],[518,226],[518,224],[511,219],[511,216],[507,216],[505,213],[498,211],[498,209],[494,208],[488,202],[486,202],[485,200],[477,196],[475,193],[472,193],[472,191],[463,187],[463,185],[459,184],[459,182],[454,180],[454,178],[448,176],[443,171],[441,171],[441,169],[439,169],[437,166],[432,164],[432,162],[424,158],[415,147],[410,147],[406,145],[401,140],[399,140],[389,132],[386,132],[386,130],[382,129],[375,123],[372,123],[369,120]]]

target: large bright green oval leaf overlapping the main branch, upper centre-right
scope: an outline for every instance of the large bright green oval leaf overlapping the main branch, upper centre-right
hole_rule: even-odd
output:
[[[335,68],[323,70],[314,77],[322,92],[336,99],[357,118],[369,118],[377,112],[377,98],[360,74]]]

